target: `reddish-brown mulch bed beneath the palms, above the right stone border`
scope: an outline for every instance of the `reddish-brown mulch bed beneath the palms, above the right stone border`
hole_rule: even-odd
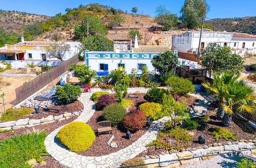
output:
[[[214,143],[225,144],[226,143],[225,139],[220,138],[219,141],[216,141],[214,136],[208,133],[208,131],[212,132],[216,127],[226,128],[226,129],[229,129],[230,132],[232,133],[237,133],[236,135],[237,139],[253,140],[255,138],[254,132],[256,132],[256,129],[253,128],[251,125],[249,125],[244,119],[242,119],[237,115],[234,115],[232,118],[232,123],[230,127],[223,127],[221,125],[221,120],[217,120],[217,118],[215,117],[216,111],[217,111],[217,108],[215,110],[209,110],[209,109],[207,110],[207,112],[205,113],[205,116],[210,116],[210,119],[208,120],[206,125],[201,125],[199,123],[198,129],[188,131],[194,134],[193,141],[188,142],[184,145],[187,145],[190,148],[195,148],[198,146],[209,145]],[[197,120],[199,121],[199,118]],[[203,145],[199,144],[198,142],[198,137],[200,135],[203,135],[205,137],[205,144]],[[230,142],[235,142],[235,141],[231,139]],[[158,155],[164,150],[165,149],[156,150],[155,146],[151,146],[137,156],[140,157],[145,155]]]

